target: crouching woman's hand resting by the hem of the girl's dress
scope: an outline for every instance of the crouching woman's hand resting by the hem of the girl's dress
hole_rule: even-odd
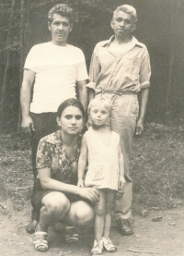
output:
[[[93,189],[93,188],[80,188],[79,192],[80,197],[85,198],[92,203],[96,203],[99,201],[99,192],[98,189]]]

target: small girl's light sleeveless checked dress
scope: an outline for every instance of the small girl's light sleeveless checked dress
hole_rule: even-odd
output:
[[[106,144],[93,128],[86,131],[88,151],[86,187],[118,190],[120,136],[114,131],[110,133],[109,142]]]

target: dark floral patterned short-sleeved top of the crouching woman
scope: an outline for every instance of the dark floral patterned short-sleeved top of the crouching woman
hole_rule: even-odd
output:
[[[36,167],[38,169],[51,168],[53,179],[76,185],[80,141],[81,137],[79,136],[74,160],[70,162],[63,147],[61,130],[45,136],[40,140],[38,146]],[[35,190],[42,190],[39,177],[35,181]]]

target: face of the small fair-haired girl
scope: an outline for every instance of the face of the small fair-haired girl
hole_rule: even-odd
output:
[[[109,120],[109,110],[104,104],[96,104],[91,106],[89,116],[91,118],[91,122],[95,126],[103,126]]]

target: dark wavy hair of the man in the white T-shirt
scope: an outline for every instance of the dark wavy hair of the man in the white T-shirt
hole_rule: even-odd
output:
[[[73,9],[69,6],[65,4],[53,6],[48,13],[48,22],[52,23],[52,17],[55,13],[67,17],[70,23],[73,22]]]

